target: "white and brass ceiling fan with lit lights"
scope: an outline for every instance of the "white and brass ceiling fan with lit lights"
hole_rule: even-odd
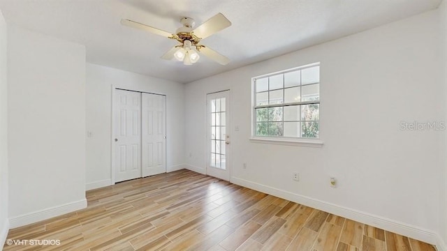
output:
[[[168,31],[156,29],[132,20],[121,20],[121,24],[125,26],[142,29],[159,36],[177,40],[179,45],[175,45],[175,47],[168,50],[168,52],[161,56],[161,59],[171,60],[175,58],[178,61],[183,61],[185,65],[191,65],[198,61],[200,56],[197,52],[200,52],[223,66],[230,62],[230,59],[226,56],[210,49],[210,47],[199,44],[200,40],[231,25],[231,22],[222,13],[214,15],[214,17],[200,24],[197,28],[193,28],[195,22],[191,17],[183,17],[180,22],[183,26],[177,29],[175,33],[169,33]]]

